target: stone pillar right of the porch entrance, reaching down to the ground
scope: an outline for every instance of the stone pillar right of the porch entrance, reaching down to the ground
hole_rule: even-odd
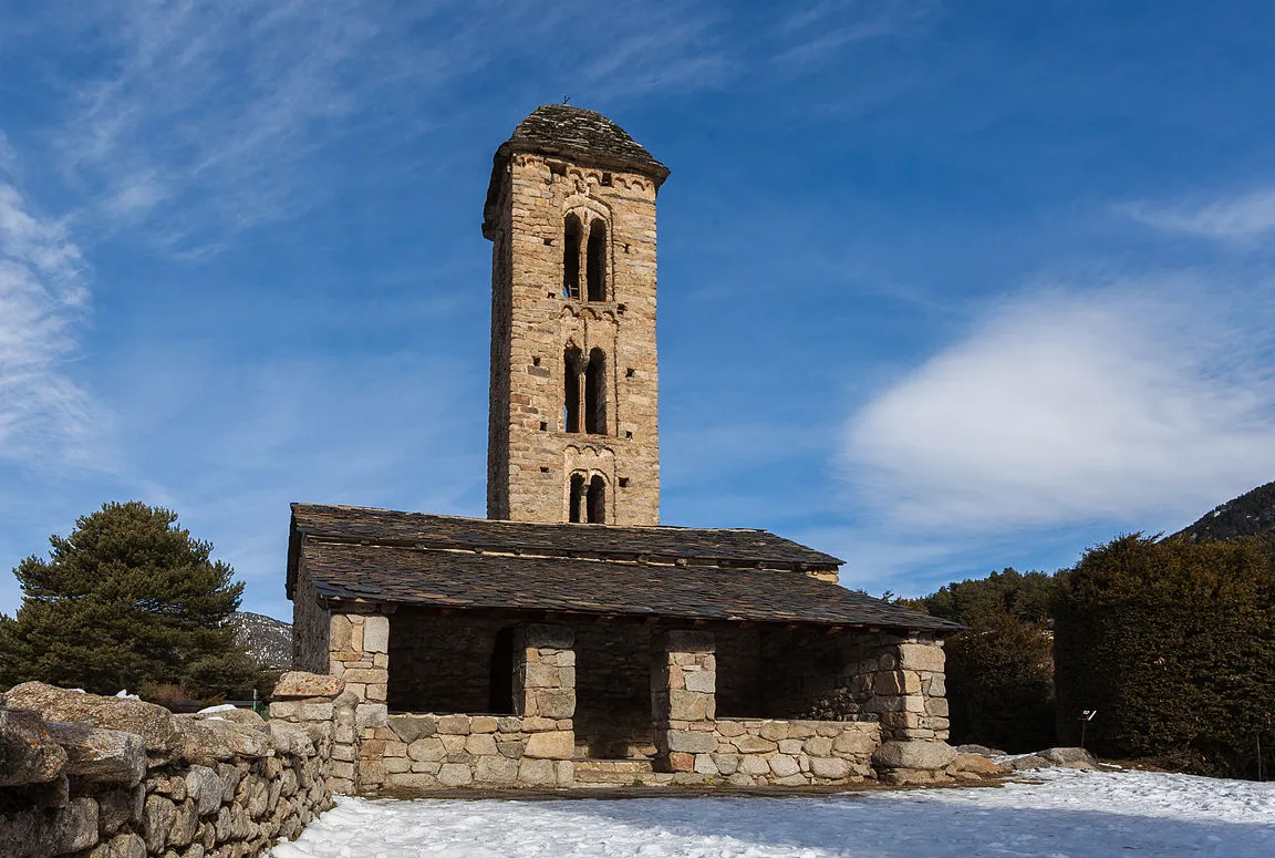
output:
[[[657,760],[668,771],[694,771],[695,755],[717,750],[717,645],[710,631],[669,630],[652,662],[652,718]]]

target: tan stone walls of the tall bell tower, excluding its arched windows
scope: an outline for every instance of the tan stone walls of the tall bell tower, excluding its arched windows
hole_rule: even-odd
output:
[[[608,524],[658,524],[654,182],[515,154],[499,200],[487,515],[566,521],[584,470],[607,482]],[[606,301],[562,297],[567,213],[607,224]],[[569,344],[606,353],[604,435],[565,431]]]

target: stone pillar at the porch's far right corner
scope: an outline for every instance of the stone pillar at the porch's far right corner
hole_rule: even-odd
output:
[[[872,761],[885,780],[946,779],[956,752],[947,746],[942,641],[932,635],[886,639],[866,711],[878,713],[882,743]]]

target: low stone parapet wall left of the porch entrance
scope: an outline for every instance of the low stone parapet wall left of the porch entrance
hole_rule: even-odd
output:
[[[390,715],[362,743],[389,790],[570,787],[574,751],[570,718],[518,715]]]

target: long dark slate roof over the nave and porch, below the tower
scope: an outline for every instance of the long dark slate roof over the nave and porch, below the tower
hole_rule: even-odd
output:
[[[685,620],[958,629],[820,581],[841,561],[765,530],[488,521],[293,504],[298,567],[326,599]]]

